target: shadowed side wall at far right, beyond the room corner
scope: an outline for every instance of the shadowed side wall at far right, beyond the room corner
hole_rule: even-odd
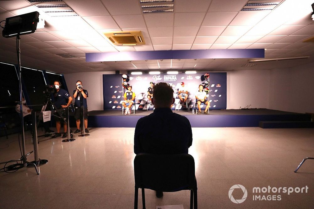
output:
[[[314,68],[301,65],[271,70],[269,108],[289,112],[314,112]]]

